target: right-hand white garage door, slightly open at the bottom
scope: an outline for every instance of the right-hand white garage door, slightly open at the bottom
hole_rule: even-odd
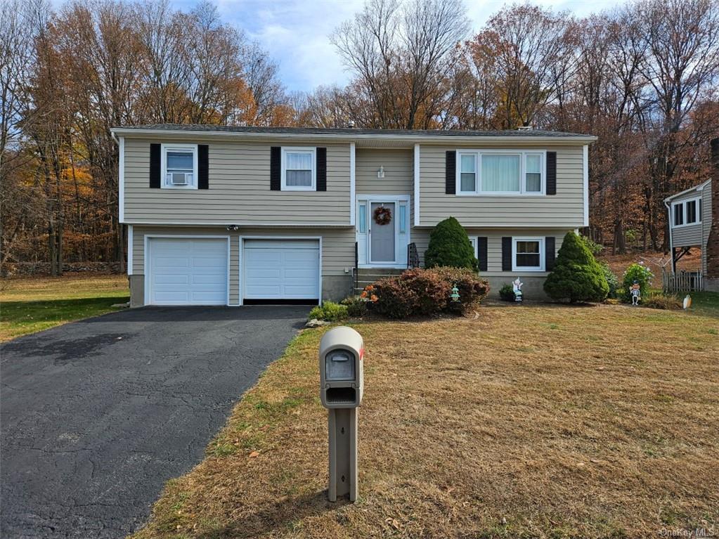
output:
[[[319,241],[244,240],[245,303],[319,298]]]

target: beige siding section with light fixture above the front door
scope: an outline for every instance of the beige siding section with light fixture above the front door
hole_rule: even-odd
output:
[[[355,178],[359,195],[411,195],[413,150],[357,149]],[[377,170],[385,168],[385,177]]]

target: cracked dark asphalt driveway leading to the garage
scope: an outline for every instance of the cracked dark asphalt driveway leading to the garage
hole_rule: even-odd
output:
[[[203,458],[307,307],[142,308],[18,338],[1,355],[7,538],[119,538]]]

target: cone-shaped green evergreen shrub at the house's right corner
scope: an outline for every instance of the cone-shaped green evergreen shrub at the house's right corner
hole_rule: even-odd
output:
[[[580,236],[567,232],[554,270],[544,281],[544,291],[554,300],[603,301],[609,292],[604,271]]]

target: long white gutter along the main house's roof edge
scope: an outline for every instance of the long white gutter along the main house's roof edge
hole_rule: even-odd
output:
[[[562,144],[566,142],[594,142],[597,137],[591,135],[576,135],[570,137],[542,137],[542,136],[482,136],[482,135],[412,135],[412,134],[350,134],[350,133],[255,133],[255,132],[227,132],[227,131],[193,131],[190,129],[127,129],[115,127],[110,130],[114,135],[142,136],[152,135],[155,137],[167,137],[168,135],[182,135],[186,137],[219,137],[239,139],[320,139],[335,140],[338,142],[352,142],[357,140],[390,140],[396,142],[441,142],[453,144],[455,142],[554,142]]]

